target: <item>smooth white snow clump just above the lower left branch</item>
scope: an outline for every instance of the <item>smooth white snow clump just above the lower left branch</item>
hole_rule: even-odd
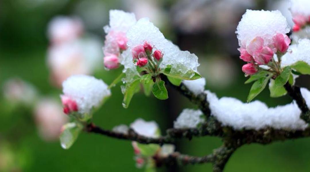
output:
[[[146,122],[141,118],[136,119],[130,124],[130,127],[139,135],[144,135],[146,137],[158,138],[159,128],[157,123],[154,121]]]

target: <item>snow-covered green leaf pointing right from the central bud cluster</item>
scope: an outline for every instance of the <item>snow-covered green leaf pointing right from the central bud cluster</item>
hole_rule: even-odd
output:
[[[201,78],[201,76],[197,72],[191,70],[186,72],[185,74],[181,71],[171,73],[171,65],[168,65],[162,73],[166,76],[178,78],[181,80],[197,80]]]

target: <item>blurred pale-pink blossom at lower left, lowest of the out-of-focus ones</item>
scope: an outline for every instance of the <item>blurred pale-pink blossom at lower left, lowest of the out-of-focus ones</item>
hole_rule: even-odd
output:
[[[46,141],[58,140],[61,127],[67,118],[60,104],[53,99],[43,99],[35,107],[35,119],[39,134]]]

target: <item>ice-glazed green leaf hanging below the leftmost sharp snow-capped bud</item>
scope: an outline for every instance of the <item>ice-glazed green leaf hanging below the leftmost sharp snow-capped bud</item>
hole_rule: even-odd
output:
[[[82,131],[83,126],[80,123],[72,122],[66,123],[60,134],[60,144],[64,149],[69,149],[72,144],[77,140],[78,135]]]

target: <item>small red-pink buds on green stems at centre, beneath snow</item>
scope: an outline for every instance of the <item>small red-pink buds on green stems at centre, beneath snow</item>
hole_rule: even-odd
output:
[[[138,67],[144,67],[148,73],[154,73],[159,70],[159,64],[162,62],[163,53],[160,50],[154,50],[148,42],[144,45],[137,45],[131,49],[133,62]]]

